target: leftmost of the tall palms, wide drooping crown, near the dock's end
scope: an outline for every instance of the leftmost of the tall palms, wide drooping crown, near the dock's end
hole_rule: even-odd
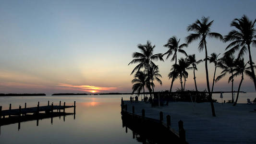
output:
[[[161,53],[153,54],[155,47],[156,47],[155,45],[151,46],[151,42],[149,41],[146,42],[146,45],[141,45],[141,44],[138,45],[138,48],[140,49],[141,52],[134,52],[133,53],[134,60],[132,60],[128,65],[134,64],[134,63],[139,63],[139,64],[134,68],[131,74],[133,74],[135,71],[139,71],[140,69],[145,68],[147,69],[147,76],[149,77],[149,72],[148,72],[149,65],[156,65],[153,62],[153,60],[164,61]],[[150,84],[149,79],[147,81],[148,81],[148,84]],[[151,99],[153,99],[151,95],[150,86],[147,88],[149,90]]]

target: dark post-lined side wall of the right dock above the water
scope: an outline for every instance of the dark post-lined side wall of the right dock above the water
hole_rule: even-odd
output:
[[[121,114],[123,127],[127,127],[133,131],[134,134],[139,134],[141,140],[146,143],[146,139],[154,141],[158,144],[166,143],[179,143],[188,144],[185,138],[185,130],[183,129],[183,121],[180,120],[179,132],[176,132],[171,128],[171,116],[168,115],[166,120],[163,122],[163,113],[159,113],[159,120],[145,117],[145,110],[142,109],[142,114],[134,114],[134,106],[132,107],[132,113],[127,111],[127,105],[124,105],[123,100],[121,100]]]

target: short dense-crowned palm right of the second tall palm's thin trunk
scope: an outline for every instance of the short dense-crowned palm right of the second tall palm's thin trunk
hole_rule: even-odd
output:
[[[173,64],[171,68],[171,72],[169,75],[172,74],[172,79],[176,79],[178,76],[180,77],[180,83],[181,83],[181,89],[182,91],[184,90],[183,88],[183,80],[186,82],[186,78],[188,77],[188,72],[186,71],[186,68],[188,67],[188,63],[186,62],[185,59],[181,58],[178,60],[178,64]],[[184,86],[185,86],[184,82]]]

